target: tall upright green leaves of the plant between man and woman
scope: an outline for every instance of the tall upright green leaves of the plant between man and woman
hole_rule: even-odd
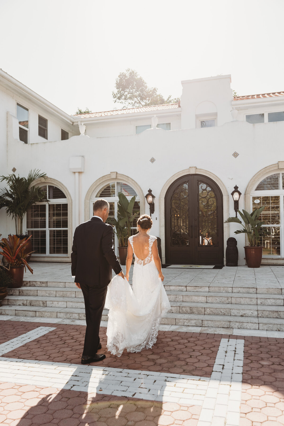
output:
[[[136,196],[133,196],[132,199],[128,201],[126,196],[122,192],[119,192],[118,199],[118,220],[110,217],[107,219],[107,223],[115,226],[118,246],[127,247],[133,221],[139,215],[139,212],[133,213]]]

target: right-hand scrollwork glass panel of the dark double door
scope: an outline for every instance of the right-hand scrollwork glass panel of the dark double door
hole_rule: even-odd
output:
[[[217,242],[217,205],[214,191],[204,182],[199,182],[198,193],[198,245],[218,245]]]

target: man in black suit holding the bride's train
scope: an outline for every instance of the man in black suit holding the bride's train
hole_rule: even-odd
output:
[[[113,228],[107,225],[109,203],[99,199],[94,203],[94,216],[75,229],[71,261],[75,284],[83,292],[86,311],[86,334],[82,364],[103,360],[100,320],[106,300],[106,291],[112,279],[112,269],[124,278],[120,263],[113,250]]]

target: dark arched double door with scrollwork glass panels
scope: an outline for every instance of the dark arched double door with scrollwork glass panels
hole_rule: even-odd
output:
[[[223,197],[203,175],[177,179],[165,197],[166,264],[223,265]]]

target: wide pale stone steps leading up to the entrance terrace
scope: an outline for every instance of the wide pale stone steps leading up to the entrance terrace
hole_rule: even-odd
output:
[[[162,324],[284,331],[282,288],[256,284],[167,282],[172,309]],[[82,292],[74,282],[24,281],[9,289],[0,315],[85,320]],[[107,321],[107,310],[103,321]]]

